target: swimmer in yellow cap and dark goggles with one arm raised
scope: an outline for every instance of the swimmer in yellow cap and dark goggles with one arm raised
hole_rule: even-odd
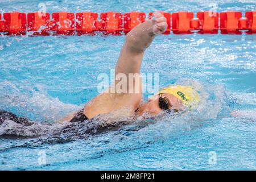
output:
[[[143,60],[144,51],[150,46],[155,36],[166,31],[167,21],[163,14],[156,11],[153,18],[144,23],[138,24],[126,36],[125,43],[121,49],[121,53],[115,66],[115,78],[119,73],[127,77],[126,92],[111,92],[117,88],[118,82],[110,86],[106,92],[98,94],[95,98],[85,104],[84,108],[69,114],[61,119],[60,122],[76,122],[92,119],[98,115],[108,114],[108,118],[137,117],[147,113],[151,116],[159,114],[163,110],[179,111],[185,107],[193,107],[193,104],[199,102],[198,93],[190,86],[171,85],[160,90],[154,97],[151,97],[146,104],[142,104],[142,81],[139,78],[139,71]],[[138,82],[133,81],[130,84],[129,74],[134,75],[134,79],[139,79]],[[136,89],[139,92],[135,92]],[[132,92],[130,92],[130,90]],[[112,120],[112,119],[110,119]]]

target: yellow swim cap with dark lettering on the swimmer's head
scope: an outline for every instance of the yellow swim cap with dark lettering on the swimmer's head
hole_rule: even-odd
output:
[[[200,101],[199,93],[196,90],[192,89],[191,86],[171,85],[167,88],[160,90],[158,93],[155,94],[155,96],[160,93],[172,94],[192,109]]]

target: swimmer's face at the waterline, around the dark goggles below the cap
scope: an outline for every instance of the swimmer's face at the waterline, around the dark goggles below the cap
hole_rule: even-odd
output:
[[[168,105],[169,105],[168,109],[175,109],[175,110],[184,109],[183,102],[179,100],[177,97],[173,96],[172,94],[163,93],[162,97],[167,99]],[[147,113],[154,116],[156,114],[159,114],[161,111],[163,111],[159,106],[159,98],[160,96],[158,95],[148,100],[147,104],[144,105],[143,109],[139,112],[139,115]]]

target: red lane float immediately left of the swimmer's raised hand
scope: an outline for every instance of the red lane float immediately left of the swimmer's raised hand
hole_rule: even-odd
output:
[[[146,13],[138,11],[132,11],[131,13],[125,13],[123,15],[123,31],[127,34],[131,29],[136,27],[139,23],[143,23],[146,20]]]

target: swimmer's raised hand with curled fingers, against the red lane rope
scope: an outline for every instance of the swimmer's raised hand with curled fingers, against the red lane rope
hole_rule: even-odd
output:
[[[152,14],[152,22],[154,26],[152,27],[153,32],[155,35],[162,34],[166,31],[167,28],[167,22],[166,18],[163,14],[159,13],[159,11],[156,11]]]

